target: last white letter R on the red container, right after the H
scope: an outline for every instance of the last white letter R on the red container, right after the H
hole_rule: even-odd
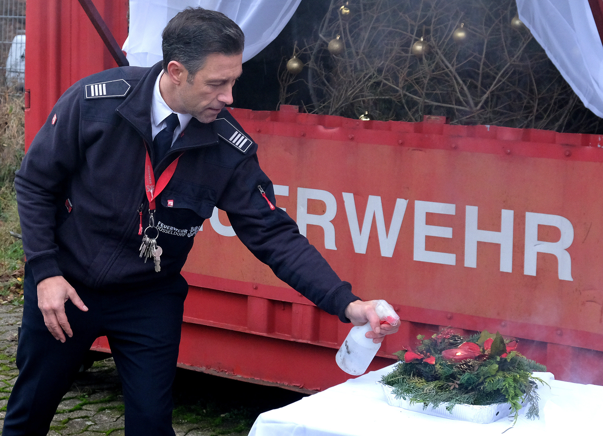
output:
[[[538,224],[555,226],[561,231],[557,242],[538,240]],[[557,256],[558,275],[560,280],[573,281],[572,258],[566,251],[573,242],[573,226],[569,219],[559,215],[526,212],[526,239],[523,257],[523,274],[536,275],[536,258],[538,252]]]

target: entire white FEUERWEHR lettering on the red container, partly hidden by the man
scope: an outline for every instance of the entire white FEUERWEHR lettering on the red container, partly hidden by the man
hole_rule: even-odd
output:
[[[288,185],[273,185],[274,194],[281,196],[289,195]],[[375,218],[379,248],[383,257],[393,257],[397,239],[402,227],[402,221],[406,213],[408,200],[396,199],[396,206],[390,223],[390,229],[385,227],[385,219],[380,196],[368,196],[367,208],[364,213],[362,227],[359,225],[356,203],[352,193],[342,193],[346,207],[347,220],[350,234],[354,245],[354,251],[365,254],[367,251],[370,229]],[[309,214],[308,200],[321,200],[326,209],[324,214]],[[282,208],[285,210],[285,208]],[[303,236],[307,234],[308,225],[318,225],[324,230],[324,247],[336,250],[335,227],[331,222],[337,213],[337,201],[329,191],[297,188],[297,225]],[[431,263],[446,265],[456,264],[456,254],[427,251],[425,249],[425,238],[427,236],[452,238],[452,228],[426,224],[427,213],[439,213],[454,215],[456,205],[415,200],[414,214],[414,255],[413,259]],[[500,244],[500,271],[512,272],[513,268],[513,219],[512,210],[502,209],[500,211],[500,231],[488,231],[478,229],[478,207],[466,206],[465,217],[465,266],[477,267],[477,245],[478,242],[490,242]],[[232,226],[223,225],[218,219],[218,208],[213,208],[212,217],[209,219],[213,229],[222,236],[235,236]],[[538,225],[555,226],[561,231],[561,237],[557,242],[544,242],[538,240]],[[199,229],[203,231],[203,227]],[[565,217],[550,214],[526,213],[525,226],[525,257],[523,274],[536,275],[537,253],[554,254],[558,261],[558,276],[561,280],[573,281],[572,259],[567,248],[573,242],[573,226]]]

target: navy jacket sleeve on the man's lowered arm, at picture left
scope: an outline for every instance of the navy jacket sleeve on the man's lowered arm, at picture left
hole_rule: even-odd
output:
[[[36,284],[63,274],[54,232],[58,201],[80,162],[80,94],[78,82],[57,101],[15,174],[23,247]]]

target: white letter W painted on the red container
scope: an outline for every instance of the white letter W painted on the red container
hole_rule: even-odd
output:
[[[408,200],[396,199],[394,214],[391,218],[390,231],[385,230],[385,219],[383,216],[383,206],[381,197],[370,195],[368,196],[367,210],[364,213],[364,222],[362,222],[362,230],[358,225],[358,214],[356,214],[356,202],[354,194],[349,192],[342,193],[344,204],[346,205],[347,222],[350,225],[350,234],[352,234],[352,242],[354,251],[365,254],[367,252],[368,236],[373,225],[373,216],[377,225],[377,236],[379,236],[379,248],[381,255],[384,257],[392,257],[396,242],[400,233],[400,226],[406,212]]]

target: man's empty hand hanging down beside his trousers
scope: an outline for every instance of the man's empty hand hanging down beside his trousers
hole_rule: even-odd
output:
[[[71,300],[75,307],[86,312],[88,308],[81,301],[75,292],[75,289],[63,278],[62,275],[55,275],[40,281],[37,286],[38,307],[44,315],[44,324],[48,331],[52,333],[54,339],[65,342],[65,335],[71,338],[73,332],[65,315],[65,302]]]

